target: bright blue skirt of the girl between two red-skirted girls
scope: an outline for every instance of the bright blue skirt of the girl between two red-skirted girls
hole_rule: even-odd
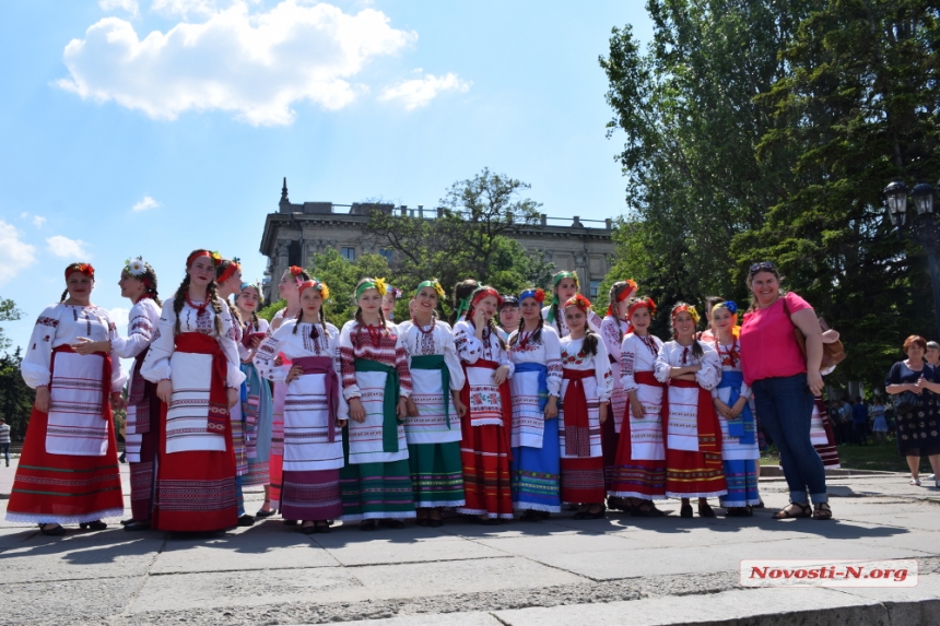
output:
[[[513,448],[513,508],[561,512],[559,417],[545,420],[541,448]]]

